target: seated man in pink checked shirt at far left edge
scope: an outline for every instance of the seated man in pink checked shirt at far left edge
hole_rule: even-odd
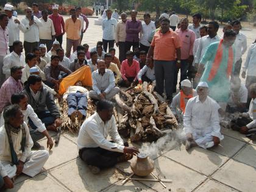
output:
[[[23,85],[21,84],[23,66],[13,66],[11,71],[11,76],[5,80],[4,84],[0,88],[0,113],[7,105],[10,105],[11,97],[13,93],[20,93],[23,90]]]

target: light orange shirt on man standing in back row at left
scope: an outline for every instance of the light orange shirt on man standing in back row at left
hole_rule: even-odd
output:
[[[68,18],[65,21],[65,30],[66,30],[66,38],[70,40],[79,40],[80,32],[82,29],[81,20],[79,18],[76,19],[76,22],[72,20],[72,18]]]

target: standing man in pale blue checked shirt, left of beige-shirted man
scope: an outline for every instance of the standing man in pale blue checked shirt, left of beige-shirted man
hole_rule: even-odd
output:
[[[107,52],[108,49],[113,48],[115,44],[115,37],[116,37],[116,25],[117,21],[115,18],[112,18],[112,10],[107,10],[107,18],[102,21],[102,30],[103,30],[103,49]]]

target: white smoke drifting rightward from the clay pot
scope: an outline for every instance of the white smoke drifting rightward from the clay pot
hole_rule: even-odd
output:
[[[162,152],[170,151],[182,144],[185,135],[182,134],[183,129],[172,130],[164,137],[159,138],[156,142],[146,143],[140,149],[140,154],[147,155],[150,158],[157,158]]]

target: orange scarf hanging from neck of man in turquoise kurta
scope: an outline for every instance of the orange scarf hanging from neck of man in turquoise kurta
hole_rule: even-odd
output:
[[[222,61],[222,54],[223,54],[223,39],[221,39],[221,41],[219,41],[219,46],[218,46],[218,50],[216,52],[216,56],[212,65],[212,69],[210,70],[210,74],[208,77],[208,81],[212,81],[216,74],[218,73],[218,69],[219,69],[219,65],[221,65],[221,61]],[[232,46],[230,46],[229,48],[229,59],[227,61],[227,78],[230,77],[230,74],[232,73],[232,68],[233,68],[233,48]]]

